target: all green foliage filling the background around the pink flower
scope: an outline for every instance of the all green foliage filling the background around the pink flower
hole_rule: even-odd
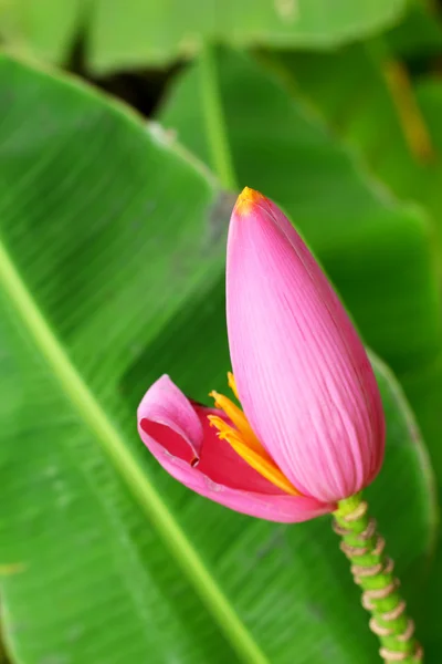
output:
[[[388,452],[369,494],[439,664],[442,3],[0,0],[0,42],[4,656],[378,661],[327,519],[231,513],[136,435],[161,373],[204,402],[223,387],[248,185],[376,354]]]

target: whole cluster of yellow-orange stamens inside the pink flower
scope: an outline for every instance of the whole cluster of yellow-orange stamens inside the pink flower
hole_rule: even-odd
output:
[[[229,373],[228,380],[229,386],[238,398],[233,374]],[[217,415],[209,415],[209,422],[218,429],[219,437],[222,440],[227,440],[249,466],[275,485],[275,487],[278,487],[291,496],[299,496],[299,491],[295,489],[292,483],[280,470],[265,447],[260,443],[241,408],[230,398],[218,392],[211,392],[210,396],[214,398],[215,407],[223,411],[233,425],[231,426]]]

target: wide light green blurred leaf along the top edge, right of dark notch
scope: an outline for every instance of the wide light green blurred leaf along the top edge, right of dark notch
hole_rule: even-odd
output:
[[[206,40],[235,45],[332,46],[397,20],[404,0],[96,0],[90,54],[96,70],[165,63]]]

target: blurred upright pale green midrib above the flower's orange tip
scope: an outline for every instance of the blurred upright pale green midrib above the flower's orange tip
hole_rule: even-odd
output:
[[[206,132],[212,167],[227,189],[236,189],[236,177],[225,131],[217,62],[213,46],[206,43],[201,51],[201,91]]]

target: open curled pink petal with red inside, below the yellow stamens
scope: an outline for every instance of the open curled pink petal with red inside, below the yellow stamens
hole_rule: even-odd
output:
[[[168,376],[147,391],[138,408],[141,440],[161,466],[197,494],[270,521],[294,522],[332,511],[314,498],[287,496],[220,440],[207,415],[222,413],[192,404]],[[200,457],[192,465],[196,455]]]

